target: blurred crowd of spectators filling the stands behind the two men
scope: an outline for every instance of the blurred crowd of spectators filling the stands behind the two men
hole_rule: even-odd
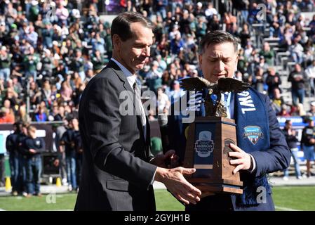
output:
[[[236,15],[222,2],[232,2]],[[217,11],[212,1],[119,1],[121,11],[138,11],[154,23],[150,62],[138,76],[142,84],[156,93],[157,102],[169,105],[183,94],[180,79],[201,76],[200,39],[224,29],[240,39],[236,78],[268,94],[278,115],[302,115],[305,95],[314,94],[315,16],[306,21],[301,11],[314,10],[314,1],[222,2]],[[264,18],[258,15],[261,3]],[[86,83],[112,57],[110,24],[99,8],[97,0],[0,1],[1,123],[58,121],[76,112]],[[296,63],[286,76],[292,103],[281,99],[286,90],[274,68],[274,49],[267,41],[261,46],[253,41],[254,23],[262,23],[261,30],[268,25],[268,36],[278,37],[278,47],[290,51]]]

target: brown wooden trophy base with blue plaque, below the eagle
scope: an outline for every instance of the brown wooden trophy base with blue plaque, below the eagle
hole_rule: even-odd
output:
[[[196,117],[189,125],[184,167],[196,168],[185,176],[203,192],[243,193],[239,172],[229,164],[230,143],[236,143],[236,124],[225,117]]]

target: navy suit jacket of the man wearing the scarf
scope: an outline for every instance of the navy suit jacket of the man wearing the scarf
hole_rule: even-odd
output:
[[[269,115],[269,130],[270,130],[270,148],[266,151],[255,151],[250,154],[253,155],[256,162],[255,171],[250,174],[249,172],[241,171],[241,179],[246,179],[248,176],[263,176],[264,174],[268,174],[271,172],[275,172],[278,170],[283,170],[288,167],[290,164],[290,149],[287,146],[286,139],[283,136],[281,129],[279,128],[279,122],[276,119],[276,114],[272,109],[272,104],[269,101],[268,96],[262,96],[264,99],[264,105],[266,105],[266,110]],[[235,95],[234,95],[235,96]],[[236,98],[234,98],[234,101]],[[201,107],[201,109],[204,109]],[[234,107],[235,109],[235,107]],[[196,116],[203,115],[204,112],[196,112]],[[235,115],[235,114],[234,114]],[[183,133],[175,131],[185,131],[185,127],[189,124],[180,124],[182,128],[178,128],[179,122],[169,118],[168,127],[170,129],[170,143],[174,143],[175,140],[181,140],[177,145],[171,146],[174,148],[177,155],[182,155],[184,157],[183,151],[185,151],[186,139],[183,137]],[[180,147],[180,148],[178,148]],[[258,192],[260,193],[260,192]],[[186,208],[187,210],[274,210],[274,203],[272,200],[272,193],[267,193],[266,195],[266,203],[260,203],[258,205],[254,205],[252,207],[239,207],[236,204],[236,195],[229,194],[216,194],[210,195],[206,198],[201,198],[201,201],[196,205],[189,205]]]

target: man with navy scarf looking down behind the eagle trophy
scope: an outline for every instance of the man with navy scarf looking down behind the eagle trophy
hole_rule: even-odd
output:
[[[237,68],[239,41],[232,34],[214,31],[206,34],[201,41],[199,63],[203,77],[215,83],[224,77],[234,77]],[[201,91],[195,102],[196,116],[204,116],[203,99],[206,90]],[[203,99],[202,99],[203,98]],[[239,94],[222,93],[221,101],[227,108],[227,117],[236,122],[238,146],[230,144],[234,150],[229,153],[233,173],[240,172],[243,194],[218,194],[201,198],[196,205],[188,205],[187,210],[274,210],[272,191],[266,174],[286,169],[290,163],[290,149],[287,146],[278,120],[268,96],[254,89]],[[189,108],[193,108],[189,105]],[[186,148],[185,131],[189,124],[168,118],[170,148],[183,160]],[[175,141],[180,140],[180,141]],[[210,194],[210,193],[209,193]]]

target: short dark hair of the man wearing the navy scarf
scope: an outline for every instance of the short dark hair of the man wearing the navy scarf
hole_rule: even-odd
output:
[[[234,37],[229,32],[223,30],[215,30],[213,32],[208,32],[200,42],[200,53],[204,53],[204,50],[209,46],[209,44],[221,44],[224,42],[230,42],[234,45],[234,51],[237,52],[239,47],[239,39]]]

